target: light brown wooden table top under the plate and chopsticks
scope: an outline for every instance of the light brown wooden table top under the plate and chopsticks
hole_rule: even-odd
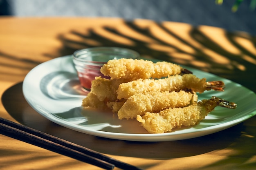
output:
[[[210,26],[119,18],[0,18],[0,117],[72,141],[145,170],[253,170],[256,117],[180,141],[105,139],[64,128],[37,113],[22,81],[40,63],[94,46],[134,49],[184,64],[256,92],[256,38]],[[235,92],[234,92],[235,93]],[[239,97],[239,96],[237,96]],[[1,170],[98,170],[96,166],[0,135]],[[118,169],[118,168],[115,168]]]

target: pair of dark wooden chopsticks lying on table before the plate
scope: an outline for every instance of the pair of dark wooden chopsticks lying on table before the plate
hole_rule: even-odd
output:
[[[1,117],[0,134],[39,146],[41,148],[45,148],[47,150],[51,150],[79,161],[90,163],[106,170],[112,170],[115,167],[124,170],[141,170],[140,168],[122,161],[118,161],[117,159],[113,159],[94,150],[65,141],[47,133],[40,132],[33,128],[17,124]]]

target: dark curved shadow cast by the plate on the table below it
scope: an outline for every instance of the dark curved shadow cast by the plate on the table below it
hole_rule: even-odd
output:
[[[15,97],[13,97],[14,95]],[[9,102],[6,102],[11,100],[13,101],[13,105],[9,105]],[[38,114],[33,108],[31,108],[31,106],[29,106],[29,104],[27,104],[22,94],[22,83],[16,84],[7,89],[7,91],[5,91],[2,95],[2,103],[7,112],[21,124],[42,132],[46,132],[61,139],[71,141],[75,144],[85,146],[92,150],[96,150],[103,154],[166,160],[173,158],[193,157],[196,155],[207,154],[208,152],[217,152],[218,150],[222,149],[231,150],[229,152],[230,155],[227,155],[225,159],[213,163],[213,166],[216,165],[216,167],[225,163],[237,163],[234,158],[240,156],[245,158],[242,164],[247,165],[247,160],[254,157],[252,145],[256,143],[256,134],[252,129],[245,129],[243,123],[211,135],[180,141],[122,141],[95,137],[81,132],[76,132],[49,121],[45,117]],[[250,121],[252,123],[255,122],[255,117],[252,117],[246,122],[248,121],[249,124]],[[254,128],[252,126],[247,127]],[[113,145],[115,146],[114,148]],[[11,152],[9,154],[11,157]],[[27,151],[27,154],[31,153]],[[37,158],[44,159],[41,156],[38,156]],[[11,159],[9,160],[11,161]],[[241,162],[238,163],[239,165],[241,164]],[[146,166],[154,165],[145,165],[144,168],[146,168]]]

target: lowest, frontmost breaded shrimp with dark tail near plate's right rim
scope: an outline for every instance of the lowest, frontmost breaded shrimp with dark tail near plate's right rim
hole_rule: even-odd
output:
[[[236,108],[236,104],[233,102],[212,97],[184,108],[168,108],[159,113],[147,112],[143,116],[138,115],[137,121],[150,133],[171,132],[175,127],[180,128],[181,126],[198,124],[216,106]]]

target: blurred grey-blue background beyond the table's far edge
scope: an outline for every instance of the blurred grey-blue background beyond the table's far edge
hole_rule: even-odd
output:
[[[0,0],[7,15],[31,16],[102,16],[126,20],[145,18],[186,22],[192,25],[217,26],[228,31],[246,31],[256,35],[256,10],[249,9],[250,0],[231,11],[234,0]]]

